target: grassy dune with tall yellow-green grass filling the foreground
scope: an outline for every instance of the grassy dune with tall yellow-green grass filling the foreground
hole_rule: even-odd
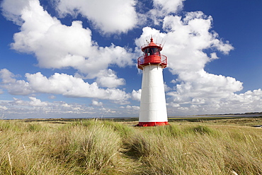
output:
[[[0,120],[0,174],[262,174],[261,123]]]

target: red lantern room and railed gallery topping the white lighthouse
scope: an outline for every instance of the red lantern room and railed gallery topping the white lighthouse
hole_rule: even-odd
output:
[[[153,38],[150,39],[150,43],[143,45],[141,50],[144,52],[144,55],[137,59],[137,67],[139,69],[143,69],[144,66],[149,64],[159,64],[162,68],[166,67],[167,57],[160,54],[162,50],[161,44],[156,45],[153,42]]]

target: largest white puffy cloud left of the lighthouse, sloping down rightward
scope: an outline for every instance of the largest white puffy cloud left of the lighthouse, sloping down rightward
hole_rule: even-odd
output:
[[[8,14],[13,13],[8,8],[4,10]],[[40,67],[73,67],[93,79],[110,65],[132,65],[133,57],[129,49],[113,44],[99,47],[91,39],[91,30],[83,28],[81,21],[73,21],[72,26],[65,26],[50,16],[38,0],[28,0],[20,12],[16,18],[23,21],[21,31],[13,35],[11,47],[18,52],[34,54]]]

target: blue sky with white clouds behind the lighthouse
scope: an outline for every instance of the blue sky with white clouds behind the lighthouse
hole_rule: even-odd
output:
[[[139,47],[165,43],[168,115],[262,108],[262,1],[1,1],[0,117],[137,117]]]

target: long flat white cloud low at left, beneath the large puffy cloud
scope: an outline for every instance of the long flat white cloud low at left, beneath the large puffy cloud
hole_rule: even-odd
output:
[[[55,73],[47,78],[40,72],[36,74],[27,73],[25,74],[27,81],[11,79],[6,76],[6,74],[12,75],[7,69],[2,69],[0,72],[1,77],[4,77],[4,79],[2,78],[2,82],[7,82],[2,86],[8,89],[10,94],[14,95],[28,95],[36,92],[44,94],[62,94],[63,96],[69,97],[108,99],[118,103],[125,103],[125,101],[130,98],[130,95],[126,94],[123,90],[115,88],[101,89],[96,82],[89,84],[81,78],[73,77],[68,74]],[[30,99],[33,100],[33,98]]]

